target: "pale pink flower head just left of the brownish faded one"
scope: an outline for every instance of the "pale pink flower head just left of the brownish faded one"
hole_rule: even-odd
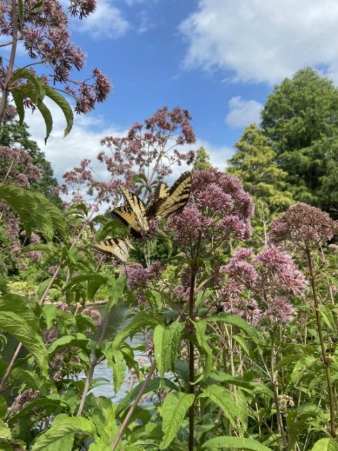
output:
[[[257,257],[240,248],[221,272],[228,275],[220,294],[224,312],[253,325],[289,323],[296,314],[292,301],[307,289],[307,280],[290,255],[274,246]]]

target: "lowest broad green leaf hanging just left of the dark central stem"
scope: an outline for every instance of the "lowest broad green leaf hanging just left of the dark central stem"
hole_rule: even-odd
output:
[[[194,395],[182,393],[180,391],[171,391],[164,398],[160,414],[163,418],[163,439],[160,443],[160,450],[167,448],[171,441],[176,437],[178,429],[182,426],[187,410],[194,403]]]

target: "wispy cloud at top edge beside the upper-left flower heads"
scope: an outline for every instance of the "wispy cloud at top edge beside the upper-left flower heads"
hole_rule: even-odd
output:
[[[96,10],[81,20],[73,21],[77,31],[89,33],[95,39],[115,39],[126,34],[130,28],[121,10],[112,6],[111,0],[100,0],[96,3]]]

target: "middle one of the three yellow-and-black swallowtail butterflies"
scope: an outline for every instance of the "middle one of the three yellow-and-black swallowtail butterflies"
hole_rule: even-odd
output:
[[[125,187],[120,189],[126,199],[126,205],[121,205],[121,207],[112,210],[112,216],[129,228],[132,237],[142,238],[149,230],[146,205]]]

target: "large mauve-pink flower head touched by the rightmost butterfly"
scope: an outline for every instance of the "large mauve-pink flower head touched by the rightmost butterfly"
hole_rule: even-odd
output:
[[[175,241],[183,249],[193,250],[201,239],[218,244],[233,237],[251,235],[253,201],[234,176],[217,169],[194,171],[189,203],[168,222]],[[193,250],[194,253],[194,250]]]

